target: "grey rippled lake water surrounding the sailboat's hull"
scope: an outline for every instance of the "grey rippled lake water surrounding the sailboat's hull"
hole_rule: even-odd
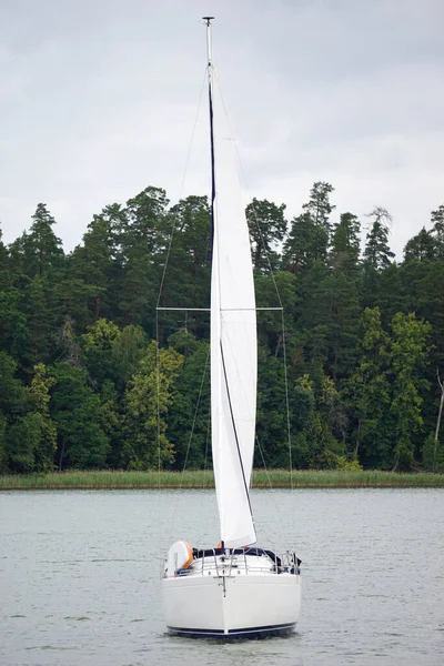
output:
[[[171,539],[219,541],[212,491],[0,493],[1,666],[444,664],[444,490],[252,495],[261,544],[303,561],[302,614],[224,645],[168,636],[159,594]]]

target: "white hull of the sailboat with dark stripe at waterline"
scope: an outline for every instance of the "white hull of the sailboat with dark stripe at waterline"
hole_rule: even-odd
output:
[[[301,607],[301,576],[271,571],[202,568],[162,579],[168,629],[183,636],[256,637],[291,632]]]

